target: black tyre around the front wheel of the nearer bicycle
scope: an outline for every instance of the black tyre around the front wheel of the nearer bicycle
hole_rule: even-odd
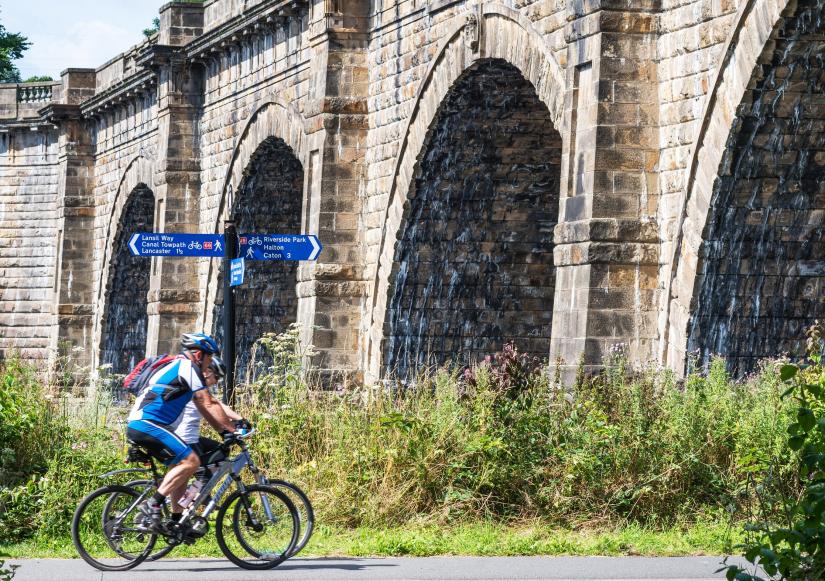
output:
[[[267,557],[255,549],[253,549],[249,544],[246,542],[243,534],[240,530],[240,518],[241,518],[241,508],[245,508],[246,506],[250,505],[249,502],[249,495],[255,492],[261,492],[265,494],[271,494],[275,498],[277,498],[288,510],[289,515],[292,519],[292,535],[289,543],[283,550],[283,552],[278,555],[277,557],[270,558]],[[232,512],[232,532],[234,533],[235,539],[247,552],[247,554],[251,557],[254,557],[257,561],[263,562],[250,562],[248,560],[243,559],[242,557],[236,555],[233,550],[227,544],[227,540],[224,537],[224,530],[223,530],[223,522],[226,518],[226,513],[229,510],[230,506],[233,506],[233,503],[236,500],[241,500],[242,502],[235,504],[235,509]],[[218,511],[218,516],[215,520],[215,538],[218,541],[218,546],[221,548],[221,551],[226,556],[227,559],[235,563],[238,567],[243,569],[250,569],[250,570],[266,570],[266,569],[273,569],[286,561],[292,554],[295,549],[295,544],[298,542],[298,531],[300,528],[300,517],[298,516],[298,510],[295,508],[295,504],[289,499],[289,497],[275,488],[274,486],[262,485],[262,484],[253,484],[247,486],[245,490],[236,490],[232,494],[227,497],[226,501],[221,505],[220,510]]]

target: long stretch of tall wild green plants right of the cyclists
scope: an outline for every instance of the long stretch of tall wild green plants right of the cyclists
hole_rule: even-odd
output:
[[[285,352],[290,352],[285,349]],[[262,464],[297,480],[322,517],[628,520],[666,525],[735,504],[781,449],[787,402],[772,365],[745,383],[721,361],[678,384],[619,357],[570,391],[512,348],[463,375],[317,392],[259,376],[242,410]]]

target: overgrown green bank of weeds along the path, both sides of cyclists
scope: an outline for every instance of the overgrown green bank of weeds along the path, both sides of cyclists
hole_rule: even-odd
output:
[[[721,363],[677,383],[666,371],[631,374],[617,358],[568,390],[506,351],[407,389],[321,393],[301,379],[292,335],[270,347],[274,366],[242,390],[241,407],[260,431],[259,463],[312,498],[327,527],[317,552],[473,552],[456,547],[487,533],[455,531],[504,529],[515,531],[497,533],[505,554],[588,552],[594,545],[584,540],[553,540],[582,530],[618,543],[604,552],[653,554],[650,539],[680,531],[711,531],[682,552],[723,550],[720,531],[747,500],[749,475],[777,458],[791,470],[792,410],[770,365],[742,383]],[[49,554],[67,538],[79,499],[98,486],[95,476],[122,466],[123,410],[70,414],[13,361],[0,389],[0,543]],[[342,540],[356,529],[354,539],[374,542]],[[626,531],[647,545],[622,549],[616,539]],[[477,546],[485,544],[497,546]]]

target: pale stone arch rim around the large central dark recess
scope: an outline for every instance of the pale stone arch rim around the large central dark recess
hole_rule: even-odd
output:
[[[421,80],[412,110],[402,131],[393,170],[378,248],[372,273],[371,306],[364,318],[367,345],[364,369],[377,377],[382,366],[382,340],[386,298],[393,274],[394,242],[402,224],[404,206],[422,148],[433,120],[450,89],[462,74],[479,61],[500,59],[514,66],[533,86],[553,125],[563,124],[564,74],[545,39],[532,22],[518,11],[501,4],[484,5],[478,12],[453,17]]]

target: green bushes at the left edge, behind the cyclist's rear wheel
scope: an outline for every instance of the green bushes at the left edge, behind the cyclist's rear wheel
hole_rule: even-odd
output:
[[[0,542],[65,534],[95,475],[115,465],[122,448],[107,414],[95,401],[70,410],[65,398],[46,394],[32,366],[0,364]]]

